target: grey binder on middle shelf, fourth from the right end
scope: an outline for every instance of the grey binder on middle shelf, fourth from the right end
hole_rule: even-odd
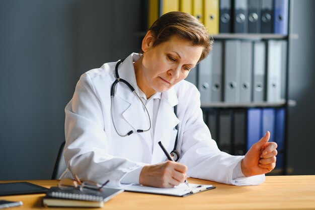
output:
[[[224,47],[224,101],[240,102],[241,41],[228,40]]]

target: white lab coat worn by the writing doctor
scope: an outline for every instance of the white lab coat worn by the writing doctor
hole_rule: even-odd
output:
[[[118,70],[120,78],[128,81],[137,92],[132,62],[139,56],[132,53]],[[235,166],[244,157],[219,151],[203,121],[200,94],[187,81],[181,81],[162,93],[153,141],[149,131],[136,132],[136,129],[149,127],[146,112],[130,89],[118,83],[113,101],[115,125],[120,133],[134,131],[129,136],[119,136],[110,114],[110,89],[115,81],[116,63],[105,63],[83,74],[73,98],[65,107],[66,144],[63,155],[72,173],[100,183],[109,179],[109,185],[119,186],[126,173],[146,164],[166,160],[157,143],[161,141],[171,152],[177,133],[175,126],[178,124],[179,162],[188,167],[187,176],[237,185],[260,184],[264,181],[264,175],[232,179]],[[71,177],[68,169],[61,177]]]

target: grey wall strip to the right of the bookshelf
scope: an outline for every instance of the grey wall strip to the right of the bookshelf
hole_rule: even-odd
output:
[[[313,0],[291,0],[288,174],[315,174],[315,26]]]

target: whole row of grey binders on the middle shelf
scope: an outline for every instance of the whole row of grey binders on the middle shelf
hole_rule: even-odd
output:
[[[185,80],[198,87],[202,105],[282,102],[286,49],[286,40],[215,41]]]

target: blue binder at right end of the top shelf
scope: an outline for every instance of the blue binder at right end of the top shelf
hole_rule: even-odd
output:
[[[273,31],[275,34],[288,34],[288,9],[288,0],[274,0]]]

